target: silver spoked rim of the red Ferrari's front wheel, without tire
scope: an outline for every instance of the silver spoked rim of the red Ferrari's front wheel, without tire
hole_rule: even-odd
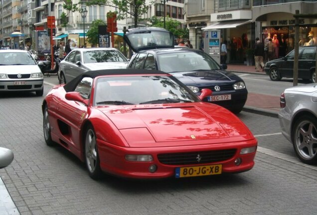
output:
[[[88,129],[85,140],[85,155],[87,168],[90,173],[93,173],[97,165],[97,145],[96,136],[92,129]]]

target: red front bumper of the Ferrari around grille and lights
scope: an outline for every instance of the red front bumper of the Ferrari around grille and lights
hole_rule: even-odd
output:
[[[148,148],[127,148],[119,147],[100,139],[97,139],[98,154],[100,158],[100,167],[104,172],[126,177],[138,179],[158,179],[175,177],[175,170],[177,167],[196,167],[205,165],[222,165],[222,173],[239,173],[252,169],[254,166],[254,157],[256,152],[240,155],[242,148],[257,146],[257,140],[252,139],[243,142],[232,142],[227,144],[204,144],[193,146],[178,146],[178,147],[148,147]],[[199,151],[225,150],[236,149],[235,154],[226,160],[199,164],[185,164],[185,165],[169,165],[163,164],[159,161],[159,154],[165,153],[188,153]],[[125,156],[127,154],[150,154],[153,156],[153,161],[149,162],[132,162],[127,161]],[[235,164],[235,160],[240,158],[242,160],[240,165]],[[154,173],[149,171],[151,165],[156,165],[157,170]]]

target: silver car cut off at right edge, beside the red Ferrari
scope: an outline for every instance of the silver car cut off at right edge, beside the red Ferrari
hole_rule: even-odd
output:
[[[279,119],[283,135],[306,164],[317,164],[317,85],[286,89],[281,95]]]

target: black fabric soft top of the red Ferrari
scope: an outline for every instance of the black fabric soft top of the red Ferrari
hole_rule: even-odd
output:
[[[142,74],[153,74],[153,75],[168,75],[168,73],[159,70],[146,70],[146,69],[107,69],[107,70],[96,70],[88,71],[80,74],[70,82],[64,85],[66,92],[72,92],[75,90],[77,84],[84,77],[96,78],[103,75],[142,75]]]

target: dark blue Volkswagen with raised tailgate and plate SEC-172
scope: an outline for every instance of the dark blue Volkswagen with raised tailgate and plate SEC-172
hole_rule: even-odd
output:
[[[208,88],[212,96],[204,99],[239,113],[246,103],[248,91],[244,81],[226,65],[218,65],[208,54],[185,46],[174,48],[173,34],[162,28],[129,29],[124,39],[136,53],[128,68],[156,69],[175,76],[196,95]]]

